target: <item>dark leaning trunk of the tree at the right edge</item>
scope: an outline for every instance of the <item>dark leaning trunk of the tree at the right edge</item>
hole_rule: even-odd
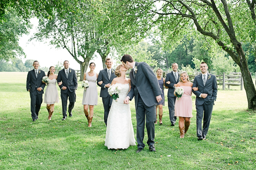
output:
[[[238,57],[240,58],[239,63],[237,64],[240,67],[244,79],[244,87],[248,101],[248,109],[256,109],[256,91],[247,65],[244,50],[240,45],[237,45],[236,51]]]

